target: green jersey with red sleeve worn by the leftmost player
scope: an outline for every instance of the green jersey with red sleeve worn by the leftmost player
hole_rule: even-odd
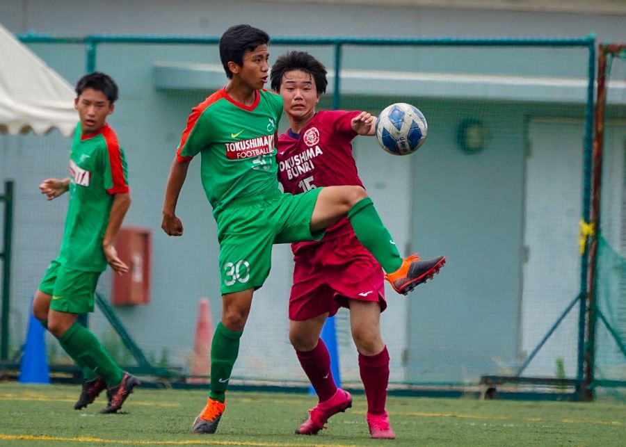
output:
[[[127,179],[124,150],[109,124],[81,136],[79,123],[70,151],[70,204],[56,259],[62,266],[86,272],[106,268],[102,239],[114,195],[129,192]]]

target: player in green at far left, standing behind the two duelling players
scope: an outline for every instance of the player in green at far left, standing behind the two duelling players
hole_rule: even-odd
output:
[[[48,200],[69,191],[70,204],[61,250],[35,293],[33,314],[83,370],[83,388],[74,409],[93,403],[106,388],[109,404],[102,413],[115,413],[139,382],[122,371],[77,317],[93,311],[95,287],[107,263],[115,273],[128,271],[113,246],[131,203],[126,159],[106,124],[118,86],[106,74],[95,72],[78,81],[76,93],[80,122],[70,151],[70,177],[46,179],[39,186]]]

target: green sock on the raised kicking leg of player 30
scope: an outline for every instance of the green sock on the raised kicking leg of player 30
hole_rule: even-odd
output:
[[[374,203],[369,197],[360,200],[348,211],[348,220],[358,240],[374,255],[386,273],[395,272],[400,268],[402,257],[398,252],[398,247],[389,234],[389,230],[380,220]]]

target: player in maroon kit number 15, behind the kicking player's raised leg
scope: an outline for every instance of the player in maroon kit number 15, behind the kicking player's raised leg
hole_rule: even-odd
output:
[[[327,83],[324,66],[303,51],[280,56],[272,67],[271,86],[282,95],[289,119],[289,129],[278,138],[277,155],[278,176],[287,193],[321,186],[363,186],[352,140],[374,135],[375,118],[360,111],[316,112]],[[319,338],[326,318],[347,307],[367,396],[369,432],[373,438],[393,439],[385,411],[390,359],[380,335],[380,312],[387,307],[383,269],[346,218],[328,227],[321,241],[294,243],[292,249],[289,339],[319,398],[296,433],[316,434],[330,416],[351,407],[350,393],[337,389],[332,379],[328,349]],[[433,263],[427,276],[437,273],[443,261]]]

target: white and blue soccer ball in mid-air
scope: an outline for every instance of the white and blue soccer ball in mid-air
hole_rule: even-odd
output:
[[[376,119],[376,140],[390,154],[412,154],[424,144],[427,133],[422,112],[403,102],[388,106]]]

